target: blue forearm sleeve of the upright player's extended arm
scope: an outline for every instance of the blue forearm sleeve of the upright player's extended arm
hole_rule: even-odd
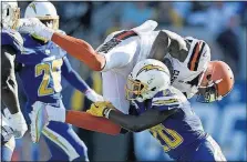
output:
[[[72,69],[66,57],[63,58],[62,75],[71,85],[83,93],[90,89],[85,81]]]

